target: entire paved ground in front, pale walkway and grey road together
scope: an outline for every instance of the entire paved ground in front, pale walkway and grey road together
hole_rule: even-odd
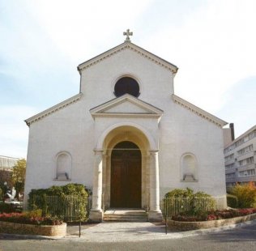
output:
[[[108,224],[108,225],[107,225]],[[112,225],[112,227],[111,227]],[[137,226],[137,227],[136,227]],[[110,231],[107,230],[108,227]],[[114,228],[115,227],[115,228]],[[61,240],[20,240],[17,236],[1,236],[1,251],[45,250],[211,250],[248,251],[256,247],[256,221],[238,224],[236,227],[211,229],[201,232],[169,232],[151,223],[100,223],[84,225],[83,235],[78,236],[78,227],[70,227],[69,234]],[[92,236],[97,234],[97,240]],[[126,234],[126,236],[123,236]],[[91,236],[91,237],[90,237]],[[127,238],[133,236],[133,239]],[[157,237],[158,236],[158,237]],[[4,239],[1,239],[4,237]]]

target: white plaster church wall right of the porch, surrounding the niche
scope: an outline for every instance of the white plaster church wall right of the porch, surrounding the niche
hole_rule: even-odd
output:
[[[173,103],[173,102],[172,102]],[[178,104],[160,122],[160,195],[189,187],[213,196],[225,196],[223,131]],[[164,111],[165,112],[165,111]],[[181,181],[181,155],[193,153],[198,182]]]

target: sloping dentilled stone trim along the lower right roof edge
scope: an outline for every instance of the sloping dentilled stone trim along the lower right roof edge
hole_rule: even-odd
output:
[[[194,104],[191,104],[190,102],[181,99],[181,97],[179,97],[179,96],[176,96],[176,95],[173,94],[172,97],[173,97],[174,103],[181,105],[183,108],[188,109],[191,113],[195,113],[199,117],[202,117],[203,119],[206,119],[207,121],[209,121],[209,122],[211,122],[211,123],[213,123],[213,124],[215,124],[215,125],[217,125],[221,128],[224,125],[228,124],[226,121],[223,121],[218,117],[215,117],[211,113],[207,113],[206,111],[204,111],[201,108],[198,108]]]

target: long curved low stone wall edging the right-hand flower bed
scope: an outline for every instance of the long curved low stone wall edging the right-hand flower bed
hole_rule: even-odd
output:
[[[231,218],[231,219],[216,219],[216,220],[197,221],[197,222],[184,222],[184,221],[176,221],[176,220],[168,219],[167,224],[170,229],[188,231],[188,230],[203,229],[203,228],[219,228],[222,226],[243,223],[245,221],[249,221],[253,219],[256,219],[256,214],[245,215],[245,216]]]

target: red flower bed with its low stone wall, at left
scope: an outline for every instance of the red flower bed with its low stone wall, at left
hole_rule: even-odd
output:
[[[0,232],[39,236],[65,236],[66,223],[52,217],[41,217],[30,214],[0,215]]]

